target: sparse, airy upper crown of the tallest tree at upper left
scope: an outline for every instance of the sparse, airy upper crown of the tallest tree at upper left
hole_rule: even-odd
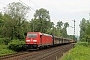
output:
[[[5,13],[17,20],[18,25],[20,25],[23,20],[26,20],[28,10],[29,7],[24,6],[20,2],[9,3],[7,7],[5,7]]]

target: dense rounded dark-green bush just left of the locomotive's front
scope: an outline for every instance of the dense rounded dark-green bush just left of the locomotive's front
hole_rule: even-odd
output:
[[[24,41],[12,40],[12,42],[8,44],[8,48],[14,51],[23,51],[24,44],[25,44]]]

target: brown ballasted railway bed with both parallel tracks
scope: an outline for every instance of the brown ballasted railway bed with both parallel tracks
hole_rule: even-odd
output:
[[[12,54],[8,57],[3,56],[0,57],[0,60],[56,60],[71,48],[73,48],[73,44],[61,45],[39,51]]]

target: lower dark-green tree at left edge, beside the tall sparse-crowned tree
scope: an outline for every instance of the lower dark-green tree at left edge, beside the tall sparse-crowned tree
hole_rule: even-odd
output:
[[[10,37],[11,36],[10,32],[12,31],[10,26],[12,26],[12,24],[13,24],[12,18],[9,15],[4,14],[4,15],[2,15],[1,20],[3,20],[3,22],[1,23],[2,37]]]

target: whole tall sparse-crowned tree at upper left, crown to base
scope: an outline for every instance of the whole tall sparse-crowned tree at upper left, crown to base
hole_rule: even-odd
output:
[[[5,7],[5,14],[12,18],[9,20],[13,21],[9,26],[12,29],[12,38],[24,38],[24,33],[28,31],[26,26],[29,24],[26,25],[25,23],[27,23],[26,15],[29,10],[29,7],[24,6],[20,2],[9,3]],[[9,25],[9,23],[8,21],[6,25]]]

